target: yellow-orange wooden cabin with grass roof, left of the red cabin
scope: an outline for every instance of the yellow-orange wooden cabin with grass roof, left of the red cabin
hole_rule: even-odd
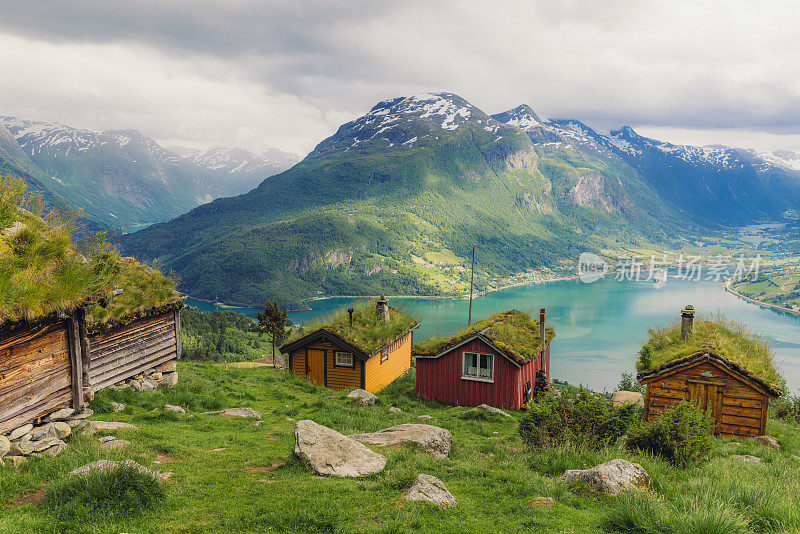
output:
[[[309,325],[281,352],[288,355],[291,372],[314,384],[376,393],[411,367],[418,326],[381,297]]]

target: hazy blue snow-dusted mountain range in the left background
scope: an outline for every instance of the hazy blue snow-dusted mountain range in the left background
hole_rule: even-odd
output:
[[[15,117],[0,117],[0,127],[11,134],[2,140],[14,153],[9,159],[31,180],[36,176],[46,191],[81,208],[89,219],[121,229],[241,193],[281,170],[269,164],[211,168],[136,130],[94,132]]]

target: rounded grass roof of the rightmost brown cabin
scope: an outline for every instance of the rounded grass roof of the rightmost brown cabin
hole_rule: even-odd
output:
[[[775,370],[775,354],[769,341],[752,332],[745,323],[717,314],[709,319],[698,318],[692,335],[686,340],[681,339],[680,320],[651,328],[649,334],[642,353],[648,353],[652,363],[648,369],[640,357],[636,364],[639,372],[657,370],[681,359],[708,352],[727,358],[773,387],[781,388],[784,384],[783,377]]]

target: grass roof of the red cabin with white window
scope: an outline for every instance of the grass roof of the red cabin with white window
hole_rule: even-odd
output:
[[[432,337],[417,343],[414,346],[414,354],[423,357],[435,356],[479,332],[507,356],[520,363],[525,363],[539,354],[545,343],[550,343],[556,335],[555,330],[547,327],[543,343],[539,337],[539,323],[527,313],[511,310],[490,315],[450,336]]]

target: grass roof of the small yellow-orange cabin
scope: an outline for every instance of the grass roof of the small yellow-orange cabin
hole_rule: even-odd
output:
[[[353,306],[353,326],[350,327],[350,316],[346,308],[340,308],[330,315],[319,318],[302,329],[296,330],[287,341],[293,343],[301,337],[320,328],[335,334],[358,347],[367,355],[372,355],[384,346],[419,324],[414,317],[389,307],[389,321],[379,319],[375,314],[376,301],[360,302]]]

